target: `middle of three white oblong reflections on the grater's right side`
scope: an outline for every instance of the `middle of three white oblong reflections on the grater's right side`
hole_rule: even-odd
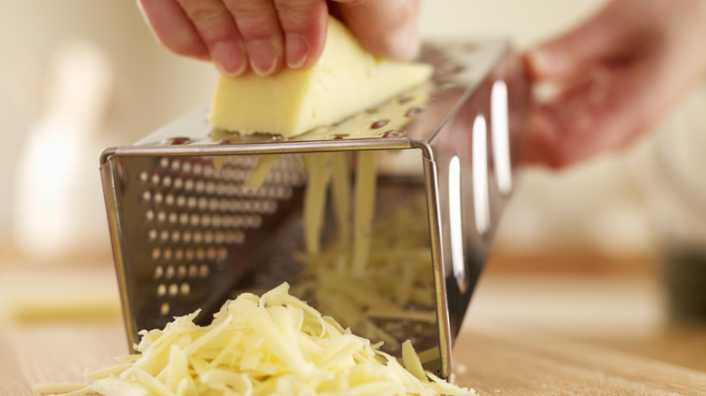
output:
[[[473,121],[473,209],[475,228],[481,235],[491,227],[486,133],[485,118],[477,116]]]

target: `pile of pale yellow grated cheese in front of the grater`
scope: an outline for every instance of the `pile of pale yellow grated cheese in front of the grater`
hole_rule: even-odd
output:
[[[289,294],[289,285],[224,304],[211,325],[198,312],[143,330],[140,354],[86,375],[65,395],[474,395],[423,372],[411,344],[403,362]],[[66,389],[65,389],[66,390]],[[35,391],[51,391],[46,386]]]

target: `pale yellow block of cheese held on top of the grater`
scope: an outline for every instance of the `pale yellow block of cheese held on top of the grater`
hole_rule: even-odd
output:
[[[241,135],[293,137],[375,107],[428,80],[432,67],[367,52],[348,29],[329,18],[326,44],[310,69],[274,76],[219,77],[209,120]]]

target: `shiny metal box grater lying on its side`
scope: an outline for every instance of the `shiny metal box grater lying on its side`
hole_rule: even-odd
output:
[[[302,156],[373,150],[387,164],[376,211],[416,194],[425,209],[415,222],[429,236],[435,323],[395,334],[431,350],[425,368],[447,378],[520,165],[527,89],[508,42],[429,42],[420,61],[434,65],[428,85],[301,137],[236,138],[211,130],[200,108],[133,146],[106,149],[100,172],[130,344],[139,330],[198,308],[207,320],[235,290],[297,284]],[[272,154],[262,185],[243,187],[258,158]]]

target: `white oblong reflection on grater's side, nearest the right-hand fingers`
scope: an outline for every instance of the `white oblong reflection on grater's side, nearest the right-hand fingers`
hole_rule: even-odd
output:
[[[508,86],[505,81],[497,80],[491,90],[492,162],[495,165],[495,181],[503,195],[512,190],[508,123]]]

